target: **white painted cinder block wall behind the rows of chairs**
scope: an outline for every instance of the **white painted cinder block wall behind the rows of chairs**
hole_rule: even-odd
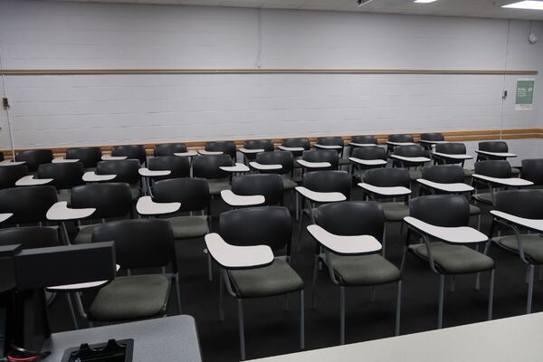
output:
[[[532,28],[543,37],[541,22]],[[529,44],[528,33],[527,21],[495,19],[0,1],[5,69],[260,65],[543,71],[543,42]],[[543,127],[543,112],[537,106],[514,110],[517,78],[521,77],[12,75],[5,77],[5,86],[12,105],[14,147],[42,148]],[[535,78],[536,103],[541,104],[543,78]],[[504,84],[510,96],[502,105]],[[5,112],[0,112],[0,147],[10,148],[5,124]],[[526,152],[519,152],[523,157],[541,149],[536,140],[510,143],[522,145],[516,148]]]

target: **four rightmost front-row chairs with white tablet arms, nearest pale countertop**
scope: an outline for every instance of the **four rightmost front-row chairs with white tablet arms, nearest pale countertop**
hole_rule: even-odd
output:
[[[520,202],[520,204],[518,203]],[[485,235],[468,226],[470,207],[462,195],[426,195],[411,200],[405,247],[400,267],[382,255],[386,222],[380,203],[345,201],[320,205],[315,220],[307,229],[318,243],[312,282],[313,300],[319,262],[326,264],[330,280],[339,287],[340,343],[345,343],[345,289],[397,284],[395,334],[400,331],[402,275],[406,256],[414,254],[428,262],[439,276],[438,328],[443,326],[444,279],[447,275],[477,275],[488,271],[489,299],[487,318],[492,317],[494,261],[488,256],[491,244],[514,252],[528,266],[527,313],[531,311],[534,269],[543,259],[543,193],[538,190],[506,190],[496,194],[491,232]],[[286,245],[286,261],[274,256],[290,241],[291,217],[277,206],[245,208],[221,214],[220,233],[206,235],[207,247],[220,265],[227,291],[237,299],[240,323],[240,348],[244,358],[243,299],[300,292],[300,348],[303,340],[303,281],[288,265],[291,248]],[[502,225],[513,231],[496,234]],[[524,231],[524,233],[522,233]],[[533,233],[536,232],[536,233]],[[472,248],[485,245],[484,252]],[[266,248],[266,246],[268,248]],[[222,284],[221,284],[222,285]],[[219,300],[222,300],[223,290]],[[222,301],[220,301],[222,303]],[[314,303],[313,303],[314,306]],[[220,316],[223,318],[221,307]]]

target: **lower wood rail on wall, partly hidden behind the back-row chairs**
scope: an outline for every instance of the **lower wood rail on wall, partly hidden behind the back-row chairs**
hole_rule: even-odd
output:
[[[448,141],[454,141],[454,142],[462,142],[462,141],[477,141],[477,140],[489,140],[489,139],[519,139],[519,138],[543,138],[543,129],[481,129],[481,130],[463,130],[463,131],[449,131],[449,132],[442,132],[443,136],[445,137],[445,140]],[[414,140],[418,141],[420,139],[420,133],[412,133]],[[353,135],[339,135],[341,136],[346,144],[348,144],[348,141],[352,138]],[[385,144],[386,138],[388,138],[387,134],[378,134],[375,135],[377,137],[379,144]],[[301,137],[301,136],[293,136],[293,137]],[[287,137],[284,137],[287,138]],[[255,138],[251,138],[255,139]],[[217,140],[217,139],[213,139]],[[232,139],[235,144],[239,147],[243,146],[243,142],[247,139]],[[271,140],[277,144],[281,144],[281,138],[271,138]],[[317,141],[317,137],[310,137],[311,143],[315,143]],[[179,143],[186,144],[187,148],[191,149],[198,149],[198,148],[204,148],[205,143],[207,140],[200,140],[200,141],[179,141]],[[162,143],[146,143],[145,148],[147,149],[148,155],[153,154],[153,148],[155,145],[158,144],[164,144],[164,143],[174,143],[174,142],[162,142]],[[108,153],[111,151],[111,148],[115,145],[97,145],[100,146],[102,151]],[[74,146],[74,148],[77,147],[83,147],[83,146]],[[70,147],[62,147],[62,148],[50,148],[52,149],[52,152],[59,156],[66,153],[66,150],[68,150]],[[15,151],[21,151],[24,149],[29,148],[21,148],[21,149],[15,149]],[[5,156],[9,158],[9,155],[11,154],[11,149],[4,149],[2,150],[4,152]]]

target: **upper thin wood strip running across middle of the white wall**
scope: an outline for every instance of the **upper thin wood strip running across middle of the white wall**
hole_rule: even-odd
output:
[[[536,75],[521,70],[446,70],[446,69],[0,69],[5,75],[91,75],[91,74],[473,74]]]

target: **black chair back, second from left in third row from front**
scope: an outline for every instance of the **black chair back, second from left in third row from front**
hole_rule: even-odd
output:
[[[83,173],[81,162],[42,164],[38,167],[38,178],[52,178],[50,185],[55,186],[57,190],[83,185],[85,183]]]

